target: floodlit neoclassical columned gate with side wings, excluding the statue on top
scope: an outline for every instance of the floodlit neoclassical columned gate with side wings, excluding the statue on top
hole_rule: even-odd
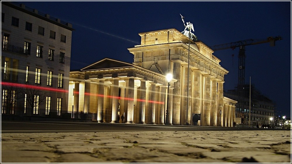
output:
[[[68,111],[97,113],[98,122],[124,115],[125,123],[141,124],[164,124],[168,114],[171,125],[191,125],[195,114],[198,125],[233,126],[236,101],[223,96],[228,71],[212,49],[176,29],[139,35],[141,44],[128,49],[132,64],[105,58],[70,72]]]

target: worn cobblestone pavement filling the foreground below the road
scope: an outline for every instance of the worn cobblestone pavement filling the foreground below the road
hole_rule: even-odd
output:
[[[1,163],[291,163],[291,131],[2,133]]]

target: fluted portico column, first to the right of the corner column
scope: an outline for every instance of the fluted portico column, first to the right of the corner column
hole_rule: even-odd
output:
[[[145,124],[146,80],[140,80],[139,124]]]

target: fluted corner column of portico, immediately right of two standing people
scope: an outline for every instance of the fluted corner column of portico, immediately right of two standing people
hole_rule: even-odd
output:
[[[127,124],[132,124],[134,119],[134,77],[129,77]]]

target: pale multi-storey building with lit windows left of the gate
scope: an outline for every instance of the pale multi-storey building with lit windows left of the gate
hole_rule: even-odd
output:
[[[1,1],[1,114],[68,110],[72,25]]]

